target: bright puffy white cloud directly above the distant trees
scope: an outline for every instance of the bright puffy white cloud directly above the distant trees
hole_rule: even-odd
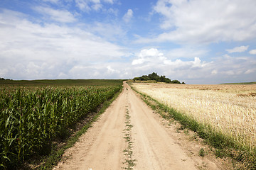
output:
[[[132,64],[134,65],[132,67],[133,72],[144,72],[144,74],[157,72],[158,74],[166,75],[170,79],[179,80],[205,77],[206,72],[213,71],[208,67],[211,62],[202,62],[198,57],[191,61],[172,61],[154,48],[144,49],[139,52]]]

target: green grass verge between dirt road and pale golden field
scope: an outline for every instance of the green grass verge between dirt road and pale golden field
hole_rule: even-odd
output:
[[[169,108],[154,98],[142,94],[132,86],[142,100],[154,111],[159,113],[166,120],[174,119],[181,123],[182,128],[187,128],[197,132],[198,136],[205,140],[206,144],[215,148],[216,157],[230,157],[233,159],[235,169],[256,169],[256,153],[251,152],[250,147],[245,147],[235,142],[233,137],[218,132],[206,123],[200,123],[186,114]]]

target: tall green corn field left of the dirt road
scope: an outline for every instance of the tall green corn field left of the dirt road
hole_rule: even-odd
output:
[[[53,137],[122,89],[122,80],[0,84],[0,169],[46,151]]]

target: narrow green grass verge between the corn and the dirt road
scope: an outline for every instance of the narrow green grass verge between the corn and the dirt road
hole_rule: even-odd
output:
[[[64,154],[65,150],[73,147],[73,145],[75,144],[75,142],[78,141],[79,137],[84,134],[92,125],[92,123],[94,123],[97,118],[105,112],[105,110],[110,106],[110,104],[119,96],[119,94],[122,92],[122,89],[120,91],[117,92],[117,94],[114,94],[114,97],[111,98],[109,101],[105,101],[102,104],[102,107],[100,108],[100,110],[92,117],[92,119],[81,128],[81,130],[79,130],[75,136],[70,137],[68,139],[68,141],[66,142],[66,145],[64,145],[63,147],[61,147],[58,150],[53,149],[53,153],[50,154],[49,157],[47,157],[46,159],[43,160],[43,163],[41,164],[41,166],[38,167],[38,169],[41,170],[49,170],[49,169],[53,169],[53,166],[55,166],[60,160],[62,155]]]

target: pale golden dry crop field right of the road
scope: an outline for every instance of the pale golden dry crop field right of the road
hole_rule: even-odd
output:
[[[134,83],[134,89],[188,115],[255,152],[256,85]],[[255,153],[254,153],[255,154]]]

